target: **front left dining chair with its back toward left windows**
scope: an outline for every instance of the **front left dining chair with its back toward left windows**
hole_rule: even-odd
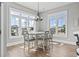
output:
[[[29,35],[26,28],[23,30],[23,36],[24,36],[24,51],[26,50],[26,47],[28,47],[29,52],[29,50],[34,47],[35,38],[33,37],[33,35]]]

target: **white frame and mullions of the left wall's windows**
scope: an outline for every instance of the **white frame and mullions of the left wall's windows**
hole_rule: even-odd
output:
[[[11,14],[11,13],[10,13],[10,10],[19,12],[20,15]],[[26,15],[28,15],[28,17],[22,16],[23,13],[26,14]],[[11,15],[19,18],[19,28],[20,28],[20,29],[18,30],[18,31],[19,31],[19,36],[12,36],[12,35],[11,35]],[[26,19],[26,20],[27,20],[27,18],[29,18],[29,16],[35,17],[35,15],[26,13],[25,11],[22,11],[22,10],[19,10],[19,9],[16,9],[16,8],[12,8],[12,7],[9,8],[9,24],[8,24],[8,25],[9,25],[9,26],[8,26],[8,28],[9,28],[9,38],[20,38],[20,37],[22,37],[21,19]],[[28,19],[28,21],[29,21],[29,19]],[[28,24],[28,26],[29,26],[29,24]],[[36,24],[34,25],[34,28],[35,28],[35,27],[36,27]],[[36,29],[36,28],[35,28],[35,29]]]

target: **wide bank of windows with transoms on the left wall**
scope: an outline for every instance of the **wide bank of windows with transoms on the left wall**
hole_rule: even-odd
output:
[[[23,28],[35,29],[34,16],[17,9],[10,8],[10,36],[21,36]],[[28,29],[29,31],[29,29]]]

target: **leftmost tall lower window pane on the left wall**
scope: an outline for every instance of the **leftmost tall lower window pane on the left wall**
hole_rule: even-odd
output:
[[[19,18],[16,16],[11,16],[11,36],[18,36],[19,29]]]

